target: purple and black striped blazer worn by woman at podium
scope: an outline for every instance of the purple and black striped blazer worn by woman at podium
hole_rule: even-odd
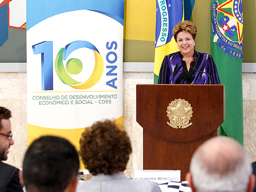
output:
[[[196,71],[190,67],[189,71],[186,62],[182,60],[181,52],[166,55],[163,59],[159,73],[158,84],[221,84],[213,57],[206,53],[194,51],[195,61],[190,66],[203,71]]]

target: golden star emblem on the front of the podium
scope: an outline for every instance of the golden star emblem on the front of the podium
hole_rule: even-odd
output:
[[[175,99],[169,103],[166,112],[170,120],[170,122],[167,122],[167,124],[171,127],[175,129],[185,129],[192,125],[192,122],[189,123],[193,113],[192,107],[184,99]]]

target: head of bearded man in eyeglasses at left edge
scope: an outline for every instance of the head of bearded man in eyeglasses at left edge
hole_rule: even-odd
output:
[[[9,148],[14,144],[11,130],[11,111],[0,107],[0,160],[6,160]]]

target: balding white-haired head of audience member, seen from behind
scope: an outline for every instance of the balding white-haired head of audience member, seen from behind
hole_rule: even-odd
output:
[[[255,185],[247,151],[228,137],[209,139],[196,150],[186,180],[193,192],[251,192]]]

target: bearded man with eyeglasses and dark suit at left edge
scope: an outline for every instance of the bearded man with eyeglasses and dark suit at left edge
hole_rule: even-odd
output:
[[[7,160],[12,139],[11,111],[0,107],[0,192],[23,192],[19,179],[19,169],[3,163]]]

